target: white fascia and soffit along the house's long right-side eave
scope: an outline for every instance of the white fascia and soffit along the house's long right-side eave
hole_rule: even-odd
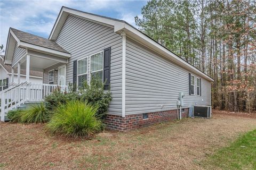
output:
[[[166,49],[165,47],[159,45],[158,43],[156,43],[156,41],[152,40],[151,38],[149,38],[148,36],[144,35],[143,33],[141,33],[140,31],[136,30],[135,28],[131,27],[131,25],[129,24],[124,24],[124,27],[119,27],[119,29],[115,29],[115,32],[117,31],[121,31],[121,30],[128,30],[131,31],[132,33],[134,33],[135,35],[137,35],[138,37],[140,37],[141,39],[147,41],[148,43],[150,43],[151,45],[153,45],[154,49],[156,52],[159,52],[161,54],[164,54],[167,57],[170,57],[170,59],[172,61],[174,61],[175,63],[185,67],[186,69],[188,69],[189,71],[192,71],[193,73],[197,73],[198,75],[200,75],[201,77],[203,77],[206,80],[209,81],[214,81],[212,78],[210,78],[208,75],[204,74],[203,72],[199,71],[196,69],[196,67],[194,67],[193,65],[190,65],[189,63],[187,63],[186,61],[182,60],[179,56],[175,55],[174,53],[172,53],[170,50]],[[135,38],[135,37],[133,37]]]

